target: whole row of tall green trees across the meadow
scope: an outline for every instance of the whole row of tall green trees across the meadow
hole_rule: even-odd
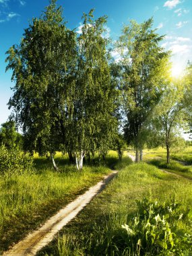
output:
[[[82,34],[67,28],[63,9],[52,0],[34,18],[20,44],[7,51],[13,96],[11,120],[23,133],[23,148],[40,155],[69,155],[77,169],[84,157],[104,158],[112,146],[121,157],[123,138],[135,148],[165,144],[167,162],[179,127],[191,127],[191,63],[185,77],[170,76],[171,53],[153,19],[123,27],[112,44],[104,36],[107,17],[82,16]],[[119,54],[119,61],[111,52]]]

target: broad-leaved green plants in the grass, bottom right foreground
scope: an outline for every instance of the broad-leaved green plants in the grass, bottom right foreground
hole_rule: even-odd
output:
[[[137,201],[137,216],[122,225],[123,241],[135,255],[184,255],[192,236],[179,228],[181,220],[191,225],[191,212],[177,202]]]

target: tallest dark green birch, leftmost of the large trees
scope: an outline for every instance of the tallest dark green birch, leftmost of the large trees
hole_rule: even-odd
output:
[[[56,0],[34,18],[20,45],[7,51],[7,69],[13,70],[15,122],[22,127],[26,149],[53,154],[65,140],[66,104],[74,82],[75,32],[65,26]]]

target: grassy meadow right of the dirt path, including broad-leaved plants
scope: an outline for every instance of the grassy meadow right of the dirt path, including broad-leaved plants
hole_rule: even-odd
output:
[[[192,255],[191,180],[126,157],[116,168],[106,190],[38,256]]]

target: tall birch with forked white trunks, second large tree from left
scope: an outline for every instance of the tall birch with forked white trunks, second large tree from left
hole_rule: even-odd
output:
[[[77,71],[69,107],[68,146],[78,170],[82,169],[86,153],[106,154],[116,129],[113,115],[116,90],[110,83],[108,40],[103,37],[106,16],[94,20],[93,11],[82,17],[82,34],[77,38]]]

